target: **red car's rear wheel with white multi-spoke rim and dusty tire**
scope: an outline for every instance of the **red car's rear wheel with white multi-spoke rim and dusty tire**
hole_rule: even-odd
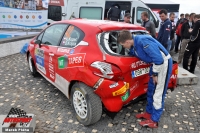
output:
[[[100,120],[102,115],[102,103],[99,96],[94,93],[93,88],[84,83],[75,83],[71,89],[70,101],[76,119],[81,124],[88,126]],[[79,106],[77,106],[79,102],[81,102],[81,105],[79,104]]]

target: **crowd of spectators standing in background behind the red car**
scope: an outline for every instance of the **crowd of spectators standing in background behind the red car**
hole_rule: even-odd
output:
[[[118,21],[119,16],[120,10],[117,6],[111,8],[108,12],[110,20]],[[178,64],[182,63],[184,69],[194,73],[197,59],[200,60],[200,14],[180,14],[179,20],[175,23],[175,13],[171,12],[168,16],[167,10],[161,9],[159,17],[162,22],[157,37],[155,24],[149,20],[148,12],[144,11],[141,13],[141,26],[145,27],[149,34],[157,39],[168,52],[174,49],[174,53],[179,54]],[[130,13],[126,13],[124,15],[124,22],[131,23],[130,19]]]

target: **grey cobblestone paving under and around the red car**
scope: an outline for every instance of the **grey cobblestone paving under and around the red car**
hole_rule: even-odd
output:
[[[19,107],[36,114],[35,132],[102,133],[200,133],[200,100],[192,86],[178,87],[166,97],[159,128],[139,126],[134,116],[145,109],[145,101],[123,108],[114,120],[103,114],[96,124],[84,127],[73,116],[70,101],[43,77],[33,78],[24,55],[0,58],[0,114]]]

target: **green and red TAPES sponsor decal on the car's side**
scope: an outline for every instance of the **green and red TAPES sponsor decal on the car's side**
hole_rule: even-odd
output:
[[[73,67],[83,67],[85,55],[85,53],[79,53],[58,57],[58,68],[64,69]]]

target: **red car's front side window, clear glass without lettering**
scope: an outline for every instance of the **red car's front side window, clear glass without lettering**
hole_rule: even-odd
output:
[[[55,24],[48,27],[44,32],[42,44],[58,46],[67,26],[67,24]]]

